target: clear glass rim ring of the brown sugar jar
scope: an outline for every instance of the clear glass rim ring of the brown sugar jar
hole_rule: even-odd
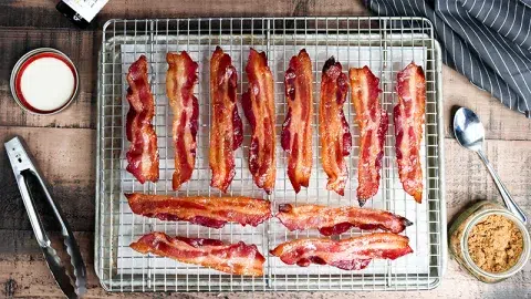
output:
[[[473,262],[472,258],[470,257],[470,251],[468,250],[468,235],[472,227],[475,227],[480,220],[485,219],[486,217],[490,215],[501,215],[503,217],[509,218],[511,221],[513,221],[517,227],[520,229],[522,233],[522,243],[523,243],[523,250],[520,254],[520,258],[518,259],[517,264],[514,264],[511,268],[507,269],[503,272],[489,272],[483,269],[481,269],[476,262]],[[525,224],[523,224],[520,219],[518,219],[511,212],[507,209],[493,209],[493,210],[483,210],[471,217],[471,219],[467,223],[465,226],[465,229],[462,230],[461,235],[461,252],[465,258],[465,261],[472,268],[473,271],[476,271],[479,275],[482,275],[485,277],[491,277],[494,279],[504,279],[509,278],[517,272],[519,272],[528,262],[530,255],[531,255],[531,236],[525,227]]]

